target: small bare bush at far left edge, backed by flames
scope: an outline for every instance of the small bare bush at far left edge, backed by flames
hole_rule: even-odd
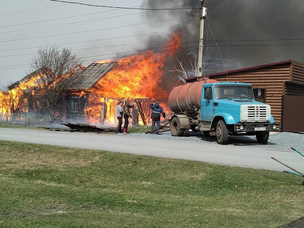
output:
[[[16,86],[8,90],[13,83],[14,81],[12,80],[8,81],[7,85],[0,91],[0,112],[19,112],[26,103],[27,96],[22,88]]]

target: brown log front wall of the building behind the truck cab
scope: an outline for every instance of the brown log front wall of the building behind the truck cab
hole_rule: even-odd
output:
[[[228,81],[250,83],[254,88],[264,88],[266,90],[266,104],[271,105],[271,114],[275,121],[281,123],[283,81],[289,81],[290,74],[291,63],[287,63],[229,73]],[[210,78],[219,82],[227,81],[226,74]]]

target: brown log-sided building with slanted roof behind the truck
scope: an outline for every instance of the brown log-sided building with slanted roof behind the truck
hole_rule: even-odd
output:
[[[284,115],[284,113],[284,119],[285,117],[287,119],[294,118],[291,115],[292,110],[282,109],[282,107],[284,107],[284,104],[282,105],[282,97],[284,95],[304,95],[304,64],[293,60],[241,68],[227,72],[224,71],[208,74],[206,76],[219,82],[229,81],[250,83],[254,87],[255,97],[257,97],[257,89],[261,88],[262,98],[258,101],[271,105],[271,114],[275,121],[279,123],[282,122],[283,119],[281,119],[281,116]],[[203,80],[203,78],[188,78],[187,82],[197,80],[200,81]],[[299,97],[295,97],[295,99],[299,99]],[[302,106],[303,105],[304,103]],[[299,112],[300,111],[301,110],[299,110]],[[299,116],[299,114],[300,113],[298,113],[297,116]],[[301,115],[304,114],[302,113]],[[299,117],[297,117],[297,120],[298,119]],[[304,122],[303,119],[301,119],[301,122]]]

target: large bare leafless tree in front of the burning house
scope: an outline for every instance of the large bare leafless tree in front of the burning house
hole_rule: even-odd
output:
[[[31,105],[37,112],[46,112],[55,116],[58,110],[58,100],[72,85],[77,74],[80,60],[71,49],[60,49],[58,46],[40,47],[31,60],[33,77]]]

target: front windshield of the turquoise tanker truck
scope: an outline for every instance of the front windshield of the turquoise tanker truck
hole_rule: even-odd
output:
[[[250,98],[254,99],[252,87],[249,85],[216,85],[214,96],[221,98]]]

